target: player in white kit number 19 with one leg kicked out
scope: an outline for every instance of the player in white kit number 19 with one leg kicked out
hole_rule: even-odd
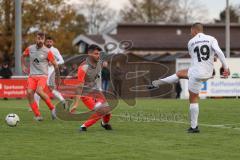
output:
[[[212,78],[214,70],[214,55],[217,54],[223,65],[225,78],[229,76],[229,69],[217,40],[214,37],[203,33],[203,25],[201,23],[195,23],[192,25],[191,35],[193,38],[188,42],[188,51],[191,56],[190,68],[180,70],[169,77],[155,80],[152,82],[152,86],[159,87],[163,84],[177,83],[179,79],[188,79],[191,118],[191,127],[188,129],[188,132],[198,133],[200,132],[198,128],[199,92],[202,82]]]

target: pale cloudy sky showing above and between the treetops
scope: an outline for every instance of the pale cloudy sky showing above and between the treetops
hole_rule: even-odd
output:
[[[79,2],[79,0],[70,0],[72,3]],[[208,10],[209,20],[218,19],[219,13],[224,10],[226,6],[226,0],[197,0],[202,6],[205,6]],[[240,0],[229,0],[230,5],[240,5]],[[128,0],[109,0],[109,6],[120,10],[124,8],[124,5],[128,4]]]

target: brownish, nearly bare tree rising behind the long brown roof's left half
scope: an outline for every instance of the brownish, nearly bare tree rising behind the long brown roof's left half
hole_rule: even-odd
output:
[[[130,5],[121,10],[123,22],[159,23],[178,21],[174,16],[176,0],[129,0]]]

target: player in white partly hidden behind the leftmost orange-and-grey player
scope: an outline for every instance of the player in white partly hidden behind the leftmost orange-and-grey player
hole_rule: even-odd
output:
[[[58,65],[62,65],[64,64],[64,60],[59,52],[59,50],[55,47],[53,47],[53,39],[52,37],[47,37],[45,40],[45,46],[47,48],[50,49],[50,51],[53,53],[54,58],[57,62]],[[49,89],[51,90],[52,94],[58,98],[63,105],[65,105],[65,99],[63,98],[62,94],[57,91],[56,89],[56,84],[55,84],[55,70],[54,70],[54,66],[50,63],[48,66],[48,79],[47,79],[47,86],[49,87]],[[34,94],[34,99],[37,102],[38,106],[39,106],[39,101],[40,101],[40,96],[35,93]]]

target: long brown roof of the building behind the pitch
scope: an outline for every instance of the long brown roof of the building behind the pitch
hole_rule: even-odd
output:
[[[119,24],[116,34],[110,34],[111,38],[121,42],[130,40],[133,42],[132,50],[168,51],[187,50],[187,43],[191,39],[190,24]],[[214,36],[222,49],[225,49],[225,25],[206,24],[205,33]],[[84,35],[89,42],[104,45],[103,35]],[[82,35],[83,37],[83,35]],[[77,37],[75,44],[83,38]],[[91,40],[91,41],[90,41]],[[240,50],[240,24],[231,24],[231,50]]]

